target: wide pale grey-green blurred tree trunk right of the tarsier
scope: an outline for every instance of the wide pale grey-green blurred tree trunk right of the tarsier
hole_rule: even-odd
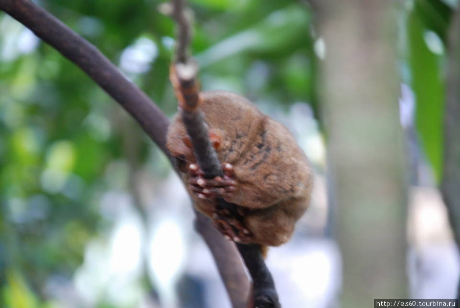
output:
[[[407,187],[399,122],[396,7],[323,1],[323,114],[337,201],[342,306],[405,298]]]

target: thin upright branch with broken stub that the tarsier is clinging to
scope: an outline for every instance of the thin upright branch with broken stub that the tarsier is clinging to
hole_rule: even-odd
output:
[[[191,24],[185,13],[185,0],[172,0],[172,16],[178,24],[176,50],[180,55],[171,66],[170,78],[174,86],[182,121],[192,142],[193,153],[204,177],[222,177],[221,162],[209,139],[208,126],[199,108],[198,66],[188,57]],[[234,217],[242,218],[237,206],[217,198],[217,208],[227,209]],[[252,278],[251,298],[248,307],[280,307],[278,294],[270,271],[265,265],[259,245],[237,245]]]

